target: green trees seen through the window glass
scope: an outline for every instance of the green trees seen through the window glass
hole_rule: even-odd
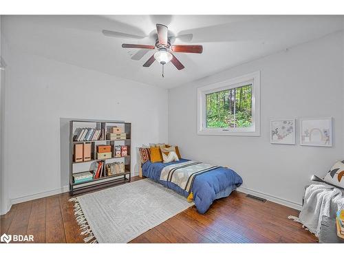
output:
[[[206,94],[206,127],[252,126],[252,84]]]

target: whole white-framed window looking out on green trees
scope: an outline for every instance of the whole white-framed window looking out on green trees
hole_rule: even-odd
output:
[[[259,136],[259,72],[197,89],[197,133]]]

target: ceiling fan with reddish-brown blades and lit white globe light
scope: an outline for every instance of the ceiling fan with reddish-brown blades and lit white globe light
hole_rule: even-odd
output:
[[[195,53],[202,54],[203,47],[202,45],[171,45],[171,38],[168,36],[169,29],[166,25],[156,24],[157,38],[155,40],[155,45],[138,45],[138,44],[122,44],[123,48],[138,48],[141,50],[158,50],[144,63],[144,67],[150,67],[151,64],[156,60],[162,64],[162,77],[164,77],[164,65],[166,63],[173,63],[173,65],[178,69],[184,69],[184,65],[173,55],[173,52],[182,52],[182,53]],[[143,39],[144,36],[137,36],[132,34],[126,34],[122,32],[113,32],[110,30],[103,30],[105,36],[116,36],[132,39]],[[185,34],[181,36],[176,36],[175,38],[191,40],[192,34]],[[145,54],[145,52],[144,52]]]

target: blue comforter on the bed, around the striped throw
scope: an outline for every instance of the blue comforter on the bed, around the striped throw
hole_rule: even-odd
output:
[[[160,180],[160,173],[164,166],[186,161],[189,160],[180,159],[179,161],[169,163],[152,163],[147,161],[142,165],[142,174],[145,177],[151,178],[169,189],[173,189],[185,197],[188,197],[189,193],[184,191],[184,189],[181,189],[178,185],[173,184],[172,182]],[[193,202],[195,202],[197,211],[199,213],[205,213],[215,199],[227,197],[241,184],[241,177],[232,169],[227,169],[225,167],[219,167],[217,169],[213,169],[211,172],[198,175],[195,178],[192,187]]]

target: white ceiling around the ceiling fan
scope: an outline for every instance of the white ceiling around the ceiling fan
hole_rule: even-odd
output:
[[[184,44],[202,44],[202,54],[175,53],[185,69],[169,63],[165,77],[161,65],[142,67],[154,53],[140,61],[138,50],[122,49],[122,43],[154,45],[155,23],[168,25],[170,34],[193,33]],[[158,87],[178,87],[228,67],[342,30],[341,16],[8,16],[3,36],[10,47],[57,61],[113,74]],[[116,39],[102,34],[115,30],[147,36]],[[182,43],[176,40],[175,43]]]

